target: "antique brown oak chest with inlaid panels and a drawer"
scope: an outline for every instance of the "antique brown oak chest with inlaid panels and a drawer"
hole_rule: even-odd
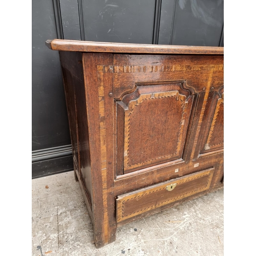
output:
[[[117,226],[223,187],[223,48],[47,44],[60,50],[96,247]]]

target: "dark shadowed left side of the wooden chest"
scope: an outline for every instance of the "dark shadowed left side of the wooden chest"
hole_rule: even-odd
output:
[[[87,201],[92,208],[89,131],[87,112],[83,111],[86,110],[86,98],[82,54],[78,52],[60,52],[60,61],[69,117],[75,177],[77,175],[80,178],[84,194],[86,194]]]

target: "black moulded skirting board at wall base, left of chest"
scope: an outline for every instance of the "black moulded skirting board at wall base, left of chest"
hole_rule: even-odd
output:
[[[73,170],[71,145],[32,152],[32,179]]]

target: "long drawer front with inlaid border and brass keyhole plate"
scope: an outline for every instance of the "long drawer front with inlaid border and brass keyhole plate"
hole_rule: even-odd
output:
[[[208,168],[118,196],[117,222],[208,189],[214,169],[214,167]]]

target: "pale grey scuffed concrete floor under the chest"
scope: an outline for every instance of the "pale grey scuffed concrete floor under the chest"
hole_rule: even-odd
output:
[[[32,180],[32,255],[222,256],[223,189],[117,228],[96,249],[93,226],[73,172]]]

